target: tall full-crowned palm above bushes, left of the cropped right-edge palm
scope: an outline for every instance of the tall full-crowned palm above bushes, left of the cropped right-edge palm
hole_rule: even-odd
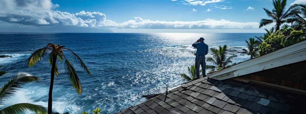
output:
[[[272,10],[272,12],[268,9],[263,8],[263,10],[265,10],[265,12],[267,13],[267,16],[271,17],[272,19],[261,19],[259,28],[275,22],[275,31],[278,31],[282,24],[292,23],[295,20],[293,16],[299,13],[299,11],[296,10],[296,6],[294,5],[290,6],[289,9],[285,11],[286,4],[287,0],[273,0],[274,9]]]

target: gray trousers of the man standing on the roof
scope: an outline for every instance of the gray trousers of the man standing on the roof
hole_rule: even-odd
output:
[[[205,67],[206,67],[205,56],[196,55],[196,64],[194,66],[196,67],[196,77],[197,78],[200,78],[200,65],[202,67],[203,77],[206,77],[206,72],[205,72]]]

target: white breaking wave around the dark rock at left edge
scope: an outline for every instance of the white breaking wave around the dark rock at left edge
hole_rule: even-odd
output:
[[[17,62],[19,60],[28,58],[31,56],[31,54],[1,54],[1,55],[8,55],[12,57],[6,57],[6,58],[0,58],[0,64],[7,64],[11,62]]]

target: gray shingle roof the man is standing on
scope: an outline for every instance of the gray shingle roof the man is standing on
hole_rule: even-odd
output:
[[[306,113],[306,95],[234,80],[201,78],[116,114]]]

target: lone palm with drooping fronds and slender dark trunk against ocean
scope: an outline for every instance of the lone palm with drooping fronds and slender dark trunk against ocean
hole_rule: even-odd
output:
[[[28,58],[28,65],[29,67],[32,67],[38,60],[41,60],[41,58],[44,55],[47,55],[48,52],[50,52],[48,56],[48,61],[51,65],[51,81],[50,81],[50,88],[49,88],[49,99],[48,99],[48,113],[52,113],[52,90],[53,90],[53,82],[54,82],[54,73],[56,76],[58,76],[58,68],[57,68],[57,62],[56,60],[59,59],[60,61],[63,61],[63,57],[65,58],[65,68],[69,76],[69,81],[72,84],[73,88],[76,88],[76,92],[80,95],[82,93],[82,86],[79,80],[78,75],[76,74],[76,71],[71,64],[71,62],[65,57],[63,50],[69,50],[74,60],[80,64],[84,70],[87,71],[87,74],[90,75],[90,72],[88,71],[87,67],[85,66],[84,62],[81,60],[79,56],[77,56],[72,50],[68,48],[64,48],[65,46],[62,45],[55,45],[52,43],[49,43],[46,47],[43,47],[41,49],[38,49],[32,53],[32,55]]]

